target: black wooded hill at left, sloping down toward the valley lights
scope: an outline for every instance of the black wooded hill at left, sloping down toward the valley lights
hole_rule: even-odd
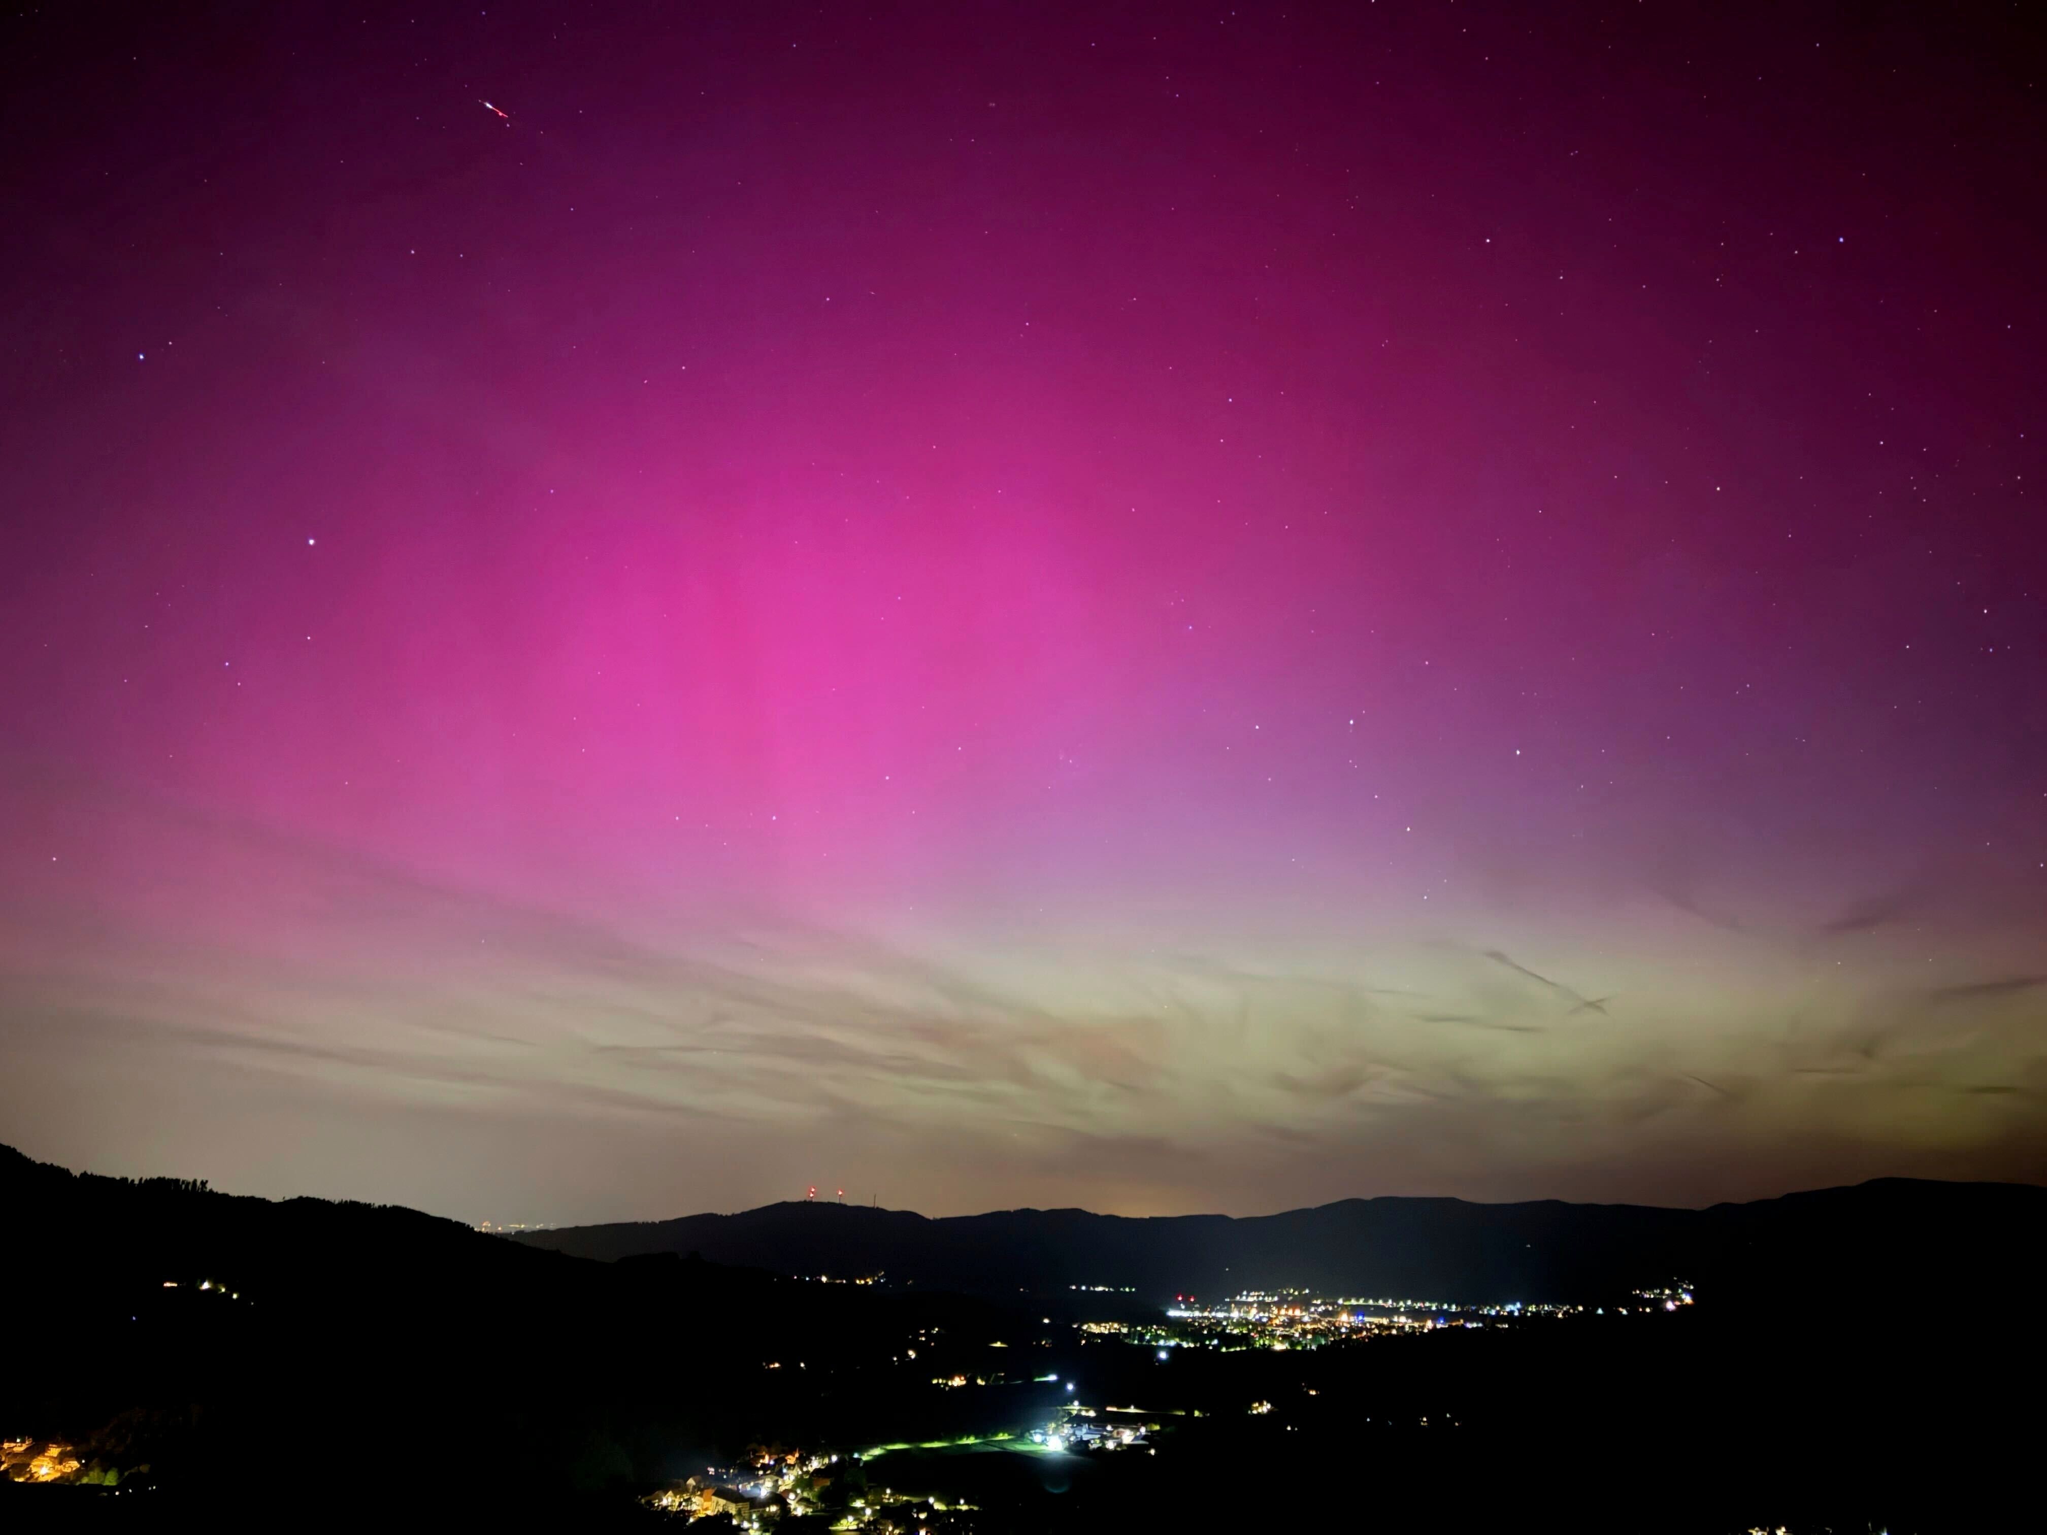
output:
[[[96,1177],[12,1148],[0,1177],[0,1431],[209,1510],[311,1478],[323,1502],[530,1515],[555,1498],[581,1521],[577,1498],[616,1508],[608,1490],[753,1439],[931,1433],[925,1398],[946,1394],[890,1371],[905,1339],[1009,1326],[948,1296],[590,1263],[416,1210]]]

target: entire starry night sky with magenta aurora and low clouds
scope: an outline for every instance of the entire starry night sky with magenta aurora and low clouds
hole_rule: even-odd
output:
[[[0,23],[0,1140],[2047,1179],[2024,6],[147,12]]]

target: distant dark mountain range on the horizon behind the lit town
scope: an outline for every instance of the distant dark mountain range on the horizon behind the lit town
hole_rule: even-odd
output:
[[[1175,1296],[1302,1287],[1439,1302],[1603,1300],[1685,1279],[1726,1302],[1787,1291],[1973,1296],[2031,1273],[2047,1189],[1877,1179],[1709,1210],[1341,1199],[1277,1216],[1005,1210],[925,1218],[786,1201],[735,1216],[526,1232],[587,1259],[696,1253],[788,1275],[1052,1298],[1077,1287]]]

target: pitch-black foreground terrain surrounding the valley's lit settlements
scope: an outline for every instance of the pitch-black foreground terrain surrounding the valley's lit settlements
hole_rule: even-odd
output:
[[[1093,1455],[892,1451],[839,1476],[829,1515],[784,1523],[829,1527],[860,1482],[976,1504],[919,1510],[933,1535],[1969,1531],[2016,1527],[2035,1496],[2039,1189],[1773,1201],[1799,1222],[1769,1218],[1775,1238],[1728,1222],[1722,1248],[1691,1253],[1697,1304],[1668,1316],[1159,1359],[1083,1345],[1071,1291],[1054,1310],[676,1255],[598,1263],[395,1208],[16,1152],[0,1173],[0,1437],[78,1461],[68,1486],[0,1484],[10,1527],[653,1527],[671,1521],[645,1492],[747,1445],[1019,1431],[1069,1392],[1167,1427]],[[933,1384],[954,1373],[987,1384]]]

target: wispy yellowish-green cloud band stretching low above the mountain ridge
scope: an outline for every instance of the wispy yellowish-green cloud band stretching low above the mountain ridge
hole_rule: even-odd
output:
[[[1722,935],[1693,954],[1705,989],[1533,931],[1513,950],[1302,933],[1286,960],[1226,931],[1208,954],[1185,933],[884,941],[766,919],[661,939],[260,823],[113,792],[90,815],[129,856],[154,847],[182,876],[205,864],[209,884],[260,894],[328,958],[280,956],[264,931],[237,941],[242,915],[205,931],[158,923],[149,901],[16,909],[45,958],[16,944],[0,980],[12,1058],[63,1060],[119,1095],[289,1079],[334,1120],[391,1101],[579,1126],[600,1203],[608,1156],[643,1136],[673,1144],[680,1203],[735,1199],[688,1171],[718,1142],[819,1169],[942,1148],[940,1167],[890,1177],[927,1203],[956,1187],[948,1169],[1001,1169],[1075,1201],[1197,1208],[1234,1169],[1257,1173],[1261,1208],[1279,1189],[1410,1189],[1410,1169],[1464,1193],[1652,1197],[1629,1165],[1676,1146],[1711,1148],[1699,1191],[1758,1193],[1791,1140],[1830,1144],[1838,1177],[2018,1171],[2043,1124],[2039,976],[1928,986],[1873,964],[1816,984],[1795,931]],[[61,1138],[33,1097],[8,1111]],[[268,1183],[262,1144],[237,1144],[231,1122],[201,1148]],[[860,1171],[819,1177],[876,1181]],[[479,1177],[422,1169],[387,1193],[446,1205]],[[761,1177],[739,1201],[778,1193]]]

